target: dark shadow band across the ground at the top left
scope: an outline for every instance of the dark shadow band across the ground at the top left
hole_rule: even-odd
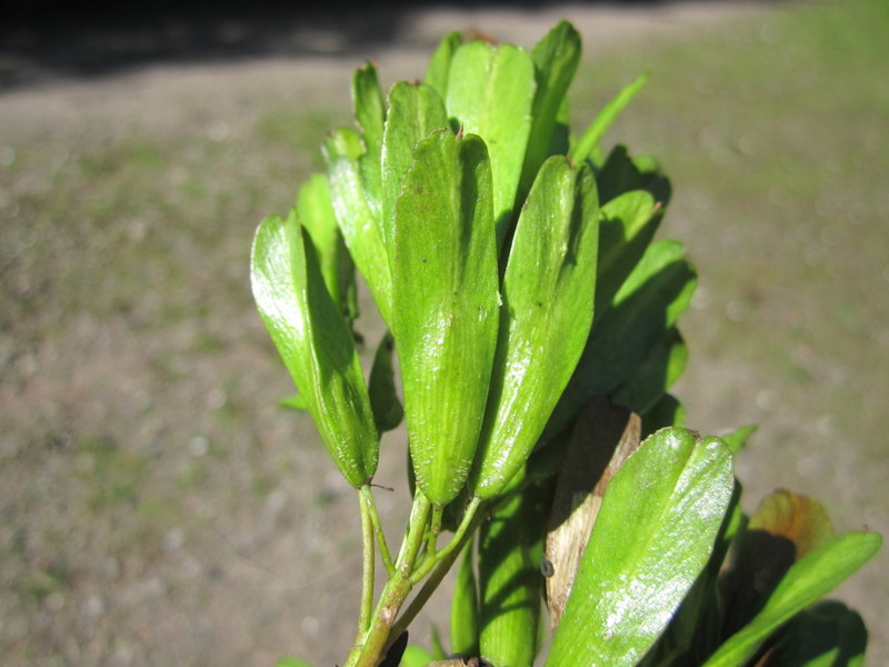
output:
[[[470,2],[448,8],[510,7],[540,1]],[[655,6],[659,0],[587,3]],[[344,2],[306,9],[294,2],[0,2],[0,91],[46,78],[90,78],[146,64],[237,61],[270,56],[367,53],[403,42],[406,18],[432,2]],[[444,7],[444,6],[441,6]]]

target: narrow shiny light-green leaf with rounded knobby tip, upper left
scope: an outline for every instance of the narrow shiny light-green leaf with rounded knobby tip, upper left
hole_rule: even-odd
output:
[[[382,241],[380,217],[366,196],[359,158],[354,155],[356,142],[354,132],[346,129],[332,132],[324,142],[330,197],[346,246],[368,283],[380,316],[391,323],[389,256]]]

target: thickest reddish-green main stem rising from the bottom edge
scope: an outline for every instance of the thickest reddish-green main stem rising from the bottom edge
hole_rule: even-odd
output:
[[[413,588],[411,571],[423,545],[431,502],[418,491],[413,497],[404,540],[396,561],[396,571],[386,583],[363,638],[349,651],[344,667],[376,667],[383,656],[401,605]]]

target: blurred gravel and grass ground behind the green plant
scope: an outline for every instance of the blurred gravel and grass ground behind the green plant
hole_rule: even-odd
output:
[[[162,13],[67,41],[66,14],[0,29],[4,665],[342,660],[357,501],[276,407],[291,387],[249,295],[251,235],[321,167],[363,59],[388,86],[451,29],[531,46],[561,17],[585,37],[576,127],[653,74],[606,143],[673,180],[663,233],[700,272],[690,424],[760,425],[749,509],[786,486],[838,530],[889,534],[886,2]],[[394,534],[403,435],[384,445]],[[887,564],[837,593],[871,665],[889,661]]]

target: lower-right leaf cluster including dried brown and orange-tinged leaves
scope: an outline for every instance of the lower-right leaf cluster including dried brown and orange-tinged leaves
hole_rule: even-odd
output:
[[[591,422],[602,421],[608,426],[592,435]],[[665,429],[640,447],[638,426],[606,405],[579,424],[576,445],[586,440],[587,448],[592,437],[613,454],[568,520],[558,524],[561,491],[578,478],[567,468],[548,520],[539,495],[493,512],[476,567],[467,551],[458,573],[451,655],[532,665],[542,588],[552,630],[547,665],[862,665],[860,616],[838,601],[812,605],[877,552],[880,536],[835,535],[818,501],[787,490],[745,516],[730,458],[747,429],[721,441]],[[628,450],[636,454],[627,458]],[[541,532],[542,573],[520,557],[533,552],[527,545]],[[440,643],[431,651],[409,647],[402,665],[438,664],[444,655]]]

